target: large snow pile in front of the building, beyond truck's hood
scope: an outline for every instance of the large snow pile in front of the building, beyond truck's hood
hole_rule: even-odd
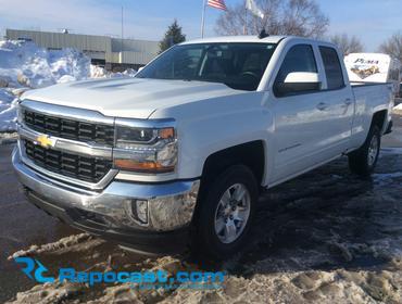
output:
[[[90,64],[74,49],[46,50],[34,42],[0,41],[0,132],[15,130],[20,89],[36,89],[87,78],[133,77],[136,71],[111,73]],[[0,136],[1,137],[1,136]]]

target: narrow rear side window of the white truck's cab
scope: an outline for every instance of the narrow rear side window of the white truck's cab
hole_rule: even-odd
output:
[[[327,76],[328,90],[336,90],[344,87],[342,67],[339,63],[338,53],[335,49],[319,47],[323,58],[325,75]]]

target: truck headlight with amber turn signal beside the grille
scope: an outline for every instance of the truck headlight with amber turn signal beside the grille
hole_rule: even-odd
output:
[[[138,173],[171,173],[177,163],[177,139],[173,127],[116,127],[114,166]]]

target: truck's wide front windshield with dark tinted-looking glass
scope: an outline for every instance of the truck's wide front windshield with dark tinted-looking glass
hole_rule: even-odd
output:
[[[136,77],[225,84],[256,90],[276,45],[199,43],[176,46],[147,65]]]

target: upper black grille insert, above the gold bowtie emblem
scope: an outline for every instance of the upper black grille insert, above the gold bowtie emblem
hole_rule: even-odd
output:
[[[114,143],[113,125],[56,117],[28,109],[23,110],[22,116],[28,128],[41,134],[81,142],[95,142],[105,147],[113,147]]]

